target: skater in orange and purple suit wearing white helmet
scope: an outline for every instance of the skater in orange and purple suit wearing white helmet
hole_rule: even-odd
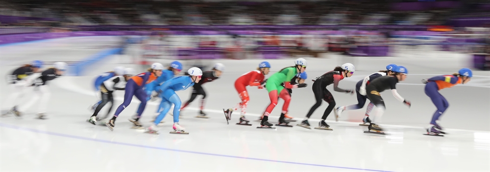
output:
[[[124,91],[123,104],[121,104],[118,107],[112,119],[109,120],[107,123],[105,123],[105,125],[109,129],[111,129],[111,131],[114,129],[114,125],[115,125],[114,122],[116,121],[116,118],[119,116],[121,112],[123,112],[124,108],[127,108],[129,106],[131,100],[133,99],[133,96],[136,96],[136,98],[138,98],[138,100],[141,101],[140,106],[142,108],[139,108],[138,115],[141,115],[141,113],[143,113],[147,105],[147,93],[143,90],[143,87],[145,87],[146,84],[151,83],[157,77],[162,75],[162,70],[163,70],[162,64],[154,63],[151,64],[151,68],[148,68],[147,72],[140,73],[136,76],[133,76],[131,77],[131,79],[127,81],[126,88]]]

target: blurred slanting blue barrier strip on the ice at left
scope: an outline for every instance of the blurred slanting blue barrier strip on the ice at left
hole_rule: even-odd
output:
[[[95,55],[90,56],[89,58],[79,62],[70,65],[69,68],[69,75],[70,76],[82,76],[82,74],[93,64],[96,64],[97,62],[100,62],[104,60],[105,58],[114,55],[114,54],[120,54],[123,51],[123,48],[112,48],[112,49],[107,49],[103,50],[101,52],[98,52]]]

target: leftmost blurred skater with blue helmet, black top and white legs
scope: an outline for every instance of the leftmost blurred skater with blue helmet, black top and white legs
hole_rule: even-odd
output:
[[[7,84],[10,87],[10,95],[7,101],[3,103],[3,107],[9,108],[7,113],[12,113],[15,116],[20,116],[20,112],[17,110],[19,100],[24,97],[25,88],[28,86],[27,78],[33,73],[41,71],[43,62],[32,61],[31,64],[25,64],[17,69],[15,69],[11,75],[7,76]]]

